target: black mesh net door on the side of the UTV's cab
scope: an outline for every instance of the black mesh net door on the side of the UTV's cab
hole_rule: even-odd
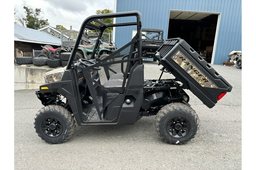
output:
[[[100,119],[106,106],[124,91],[133,51],[135,51],[135,41],[129,42],[96,64],[84,68],[86,82],[93,87],[88,86],[91,95],[95,94],[93,101],[96,102],[96,108],[98,105]],[[94,67],[101,69],[96,70]]]

